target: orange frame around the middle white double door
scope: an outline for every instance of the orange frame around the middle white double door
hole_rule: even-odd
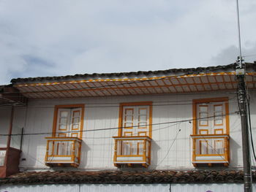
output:
[[[149,126],[148,126],[148,136],[152,138],[152,101],[141,101],[141,102],[130,102],[130,103],[121,103],[119,105],[119,118],[118,118],[118,137],[121,137],[122,133],[122,123],[123,123],[123,111],[126,106],[149,106]]]

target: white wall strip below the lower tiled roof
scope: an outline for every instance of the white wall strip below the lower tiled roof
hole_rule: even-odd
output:
[[[256,184],[252,186],[256,190]],[[138,184],[138,185],[1,185],[0,192],[240,192],[243,184]]]

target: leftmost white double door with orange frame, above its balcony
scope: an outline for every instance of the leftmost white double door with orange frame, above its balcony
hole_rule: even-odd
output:
[[[84,105],[57,105],[54,112],[53,137],[78,137],[83,134]]]

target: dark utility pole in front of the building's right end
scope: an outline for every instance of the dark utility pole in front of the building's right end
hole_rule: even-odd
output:
[[[242,132],[242,148],[243,148],[243,164],[244,164],[244,192],[252,191],[252,170],[249,153],[249,134],[248,134],[248,118],[246,112],[246,83],[245,83],[245,67],[242,64],[242,58],[238,57],[236,78],[238,82],[238,107],[241,116],[241,132]]]

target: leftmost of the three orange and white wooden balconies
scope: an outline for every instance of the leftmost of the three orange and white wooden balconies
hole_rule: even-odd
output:
[[[82,140],[77,137],[46,137],[45,164],[47,166],[74,166],[80,164]]]

